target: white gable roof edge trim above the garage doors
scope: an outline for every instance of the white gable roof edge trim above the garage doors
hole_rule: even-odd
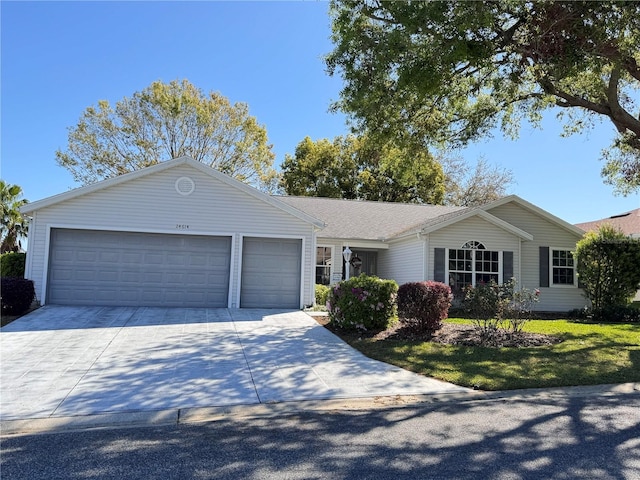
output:
[[[24,205],[23,207],[20,208],[20,211],[23,214],[29,214],[32,212],[35,212],[37,210],[41,210],[43,208],[46,207],[50,207],[52,205],[56,205],[58,203],[61,202],[65,202],[67,200],[71,200],[73,198],[78,198],[81,197],[83,195],[87,195],[90,193],[94,193],[100,190],[104,190],[106,188],[109,187],[113,187],[115,185],[120,185],[122,183],[125,182],[131,182],[133,180],[136,180],[138,178],[142,178],[145,177],[147,175],[153,175],[154,173],[158,173],[158,172],[162,172],[164,170],[168,170],[170,168],[175,168],[177,166],[180,165],[189,165],[190,167],[193,167],[197,170],[200,170],[201,172],[205,173],[206,175],[209,175],[217,180],[219,180],[220,182],[223,182],[233,188],[236,188],[244,193],[246,193],[247,195],[250,195],[262,202],[268,203],[271,206],[278,208],[290,215],[293,215],[294,217],[299,218],[300,220],[303,220],[307,223],[310,223],[312,225],[314,225],[317,228],[323,228],[325,225],[324,223],[319,220],[318,218],[309,215],[308,213],[305,213],[303,211],[300,211],[298,209],[296,209],[295,207],[291,207],[290,205],[281,202],[280,200],[278,200],[277,198],[271,196],[271,195],[267,195],[266,193],[261,192],[260,190],[253,188],[250,185],[247,185],[246,183],[240,182],[234,178],[231,178],[229,175],[226,175],[214,168],[211,168],[205,164],[203,164],[202,162],[198,162],[197,160],[194,160],[191,157],[179,157],[179,158],[174,158],[173,160],[167,160],[165,162],[160,162],[156,165],[152,165],[150,167],[146,167],[146,168],[142,168],[140,170],[136,170],[130,173],[126,173],[124,175],[119,175],[117,177],[113,177],[113,178],[109,178],[106,180],[102,180],[101,182],[97,182],[97,183],[92,183],[90,185],[85,185],[83,187],[79,187],[79,188],[75,188],[73,190],[69,190],[68,192],[65,193],[60,193],[58,195],[54,195],[51,197],[47,197],[44,198],[42,200],[37,200],[35,202],[30,202],[27,203],[26,205]]]

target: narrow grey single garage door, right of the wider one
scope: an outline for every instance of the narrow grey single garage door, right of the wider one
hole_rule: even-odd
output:
[[[240,307],[300,308],[302,240],[245,237]]]

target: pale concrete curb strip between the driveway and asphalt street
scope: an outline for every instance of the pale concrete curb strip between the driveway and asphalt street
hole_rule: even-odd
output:
[[[3,420],[0,422],[0,437],[106,428],[191,425],[232,418],[277,417],[295,415],[302,412],[336,413],[495,400],[557,400],[561,398],[614,397],[621,395],[640,395],[640,382],[498,392],[478,390],[467,393],[435,395],[421,394],[331,400],[302,400],[225,407],[174,408],[148,412],[101,413],[95,415]]]

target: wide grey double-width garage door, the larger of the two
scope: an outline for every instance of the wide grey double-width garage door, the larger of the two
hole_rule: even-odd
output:
[[[227,307],[231,237],[52,229],[47,303]]]

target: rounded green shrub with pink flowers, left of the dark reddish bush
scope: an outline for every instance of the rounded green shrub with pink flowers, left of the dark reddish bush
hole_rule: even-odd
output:
[[[345,330],[384,330],[396,318],[398,284],[362,274],[337,283],[329,293],[331,323]]]

